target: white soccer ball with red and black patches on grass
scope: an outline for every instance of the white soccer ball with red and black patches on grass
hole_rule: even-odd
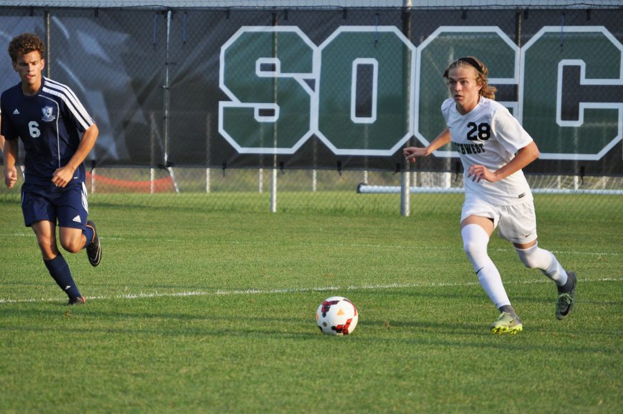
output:
[[[316,310],[316,323],[323,334],[352,334],[359,316],[352,302],[342,296],[331,296],[320,303]]]

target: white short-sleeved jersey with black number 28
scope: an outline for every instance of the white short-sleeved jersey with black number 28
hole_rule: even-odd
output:
[[[532,200],[522,170],[495,183],[467,178],[467,170],[472,165],[485,165],[495,172],[514,159],[518,150],[532,142],[532,137],[508,109],[481,96],[476,108],[465,115],[459,114],[453,99],[444,100],[442,114],[463,163],[465,197],[478,197],[497,206]]]

